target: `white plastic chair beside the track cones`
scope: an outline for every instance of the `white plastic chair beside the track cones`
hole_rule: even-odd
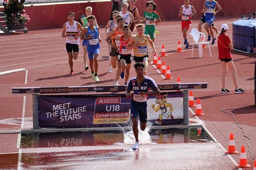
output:
[[[199,40],[199,38],[200,38],[200,34],[203,35],[203,37],[204,37],[204,39],[203,39],[202,42],[198,42],[198,40]],[[192,35],[192,37],[193,37],[193,39],[194,39],[191,57],[193,57],[194,45],[195,45],[195,44],[198,44],[199,58],[201,58],[202,55],[203,55],[203,48],[202,48],[202,45],[203,45],[203,44],[208,44],[208,48],[209,48],[209,51],[210,51],[210,57],[212,57],[212,53],[211,53],[209,41],[204,42],[204,40],[205,40],[205,34],[199,32],[198,29],[196,29],[196,28],[192,28],[190,35]]]

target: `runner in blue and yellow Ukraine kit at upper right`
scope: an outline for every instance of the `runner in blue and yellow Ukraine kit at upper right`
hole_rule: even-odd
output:
[[[216,7],[218,8],[218,10],[215,12]],[[218,2],[216,2],[215,0],[207,0],[204,2],[204,6],[203,6],[203,10],[202,12],[206,12],[205,13],[205,24],[204,24],[204,28],[208,33],[208,39],[207,41],[211,40],[211,35],[210,35],[210,27],[212,27],[212,23],[215,20],[215,15],[221,11],[221,8],[218,4]],[[216,38],[214,37],[213,31],[212,31],[212,45],[215,43]]]

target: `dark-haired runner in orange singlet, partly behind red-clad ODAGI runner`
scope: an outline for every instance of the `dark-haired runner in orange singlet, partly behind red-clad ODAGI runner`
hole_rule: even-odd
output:
[[[113,68],[116,68],[116,66],[117,66],[117,55],[118,55],[118,53],[116,51],[116,46],[114,45],[113,38],[118,36],[118,35],[123,35],[124,34],[123,27],[124,27],[124,19],[119,18],[117,20],[117,27],[113,28],[112,31],[110,32],[110,34],[108,35],[108,37],[106,38],[107,43],[112,45],[112,47],[111,47],[111,59],[110,60],[111,60]],[[110,39],[111,39],[111,41],[110,41]],[[116,44],[119,46],[120,42],[117,41]],[[120,68],[119,75],[120,75],[120,73],[121,73],[121,68]]]

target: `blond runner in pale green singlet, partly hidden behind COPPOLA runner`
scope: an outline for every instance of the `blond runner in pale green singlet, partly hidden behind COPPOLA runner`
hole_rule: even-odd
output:
[[[85,18],[82,18],[81,21],[82,21],[82,24],[83,24],[83,28],[87,27],[89,25],[88,23],[88,20],[86,19],[88,16],[92,15],[92,7],[88,6],[85,8],[85,13],[86,13],[86,17]],[[94,25],[96,27],[98,27],[98,24],[97,24],[97,20],[95,19],[94,21]],[[88,62],[88,59],[87,59],[87,47],[86,47],[86,40],[84,39],[84,41],[82,41],[82,45],[83,45],[83,49],[84,49],[84,70],[88,70],[88,66],[87,66],[87,62]]]

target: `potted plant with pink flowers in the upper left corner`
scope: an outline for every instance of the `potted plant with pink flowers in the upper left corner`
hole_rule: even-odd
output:
[[[25,0],[4,0],[4,14],[6,15],[6,26],[9,30],[24,29],[24,24],[30,21],[29,16],[23,10]]]

